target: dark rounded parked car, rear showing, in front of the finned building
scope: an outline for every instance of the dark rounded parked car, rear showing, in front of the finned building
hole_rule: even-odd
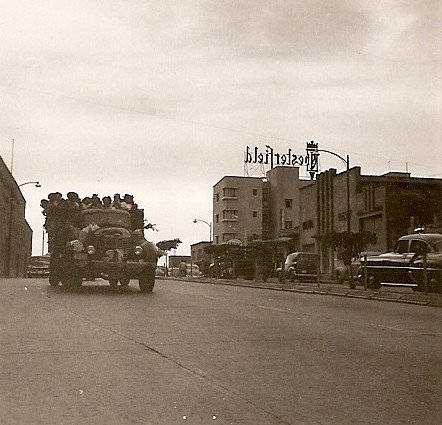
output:
[[[292,252],[287,255],[280,278],[294,280],[317,280],[319,275],[319,256],[310,252]]]

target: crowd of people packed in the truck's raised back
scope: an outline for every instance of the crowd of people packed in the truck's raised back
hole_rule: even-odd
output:
[[[45,216],[44,228],[48,233],[48,251],[53,252],[54,241],[69,240],[81,227],[81,211],[88,209],[124,210],[130,214],[132,231],[143,229],[143,210],[138,209],[133,195],[121,197],[115,194],[113,199],[104,196],[100,199],[97,194],[80,199],[78,193],[68,192],[66,198],[60,192],[53,192],[47,199],[40,201]]]

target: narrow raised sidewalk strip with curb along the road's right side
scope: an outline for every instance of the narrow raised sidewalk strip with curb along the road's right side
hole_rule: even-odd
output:
[[[181,280],[189,282],[201,282],[209,285],[242,286],[251,288],[270,289],[274,291],[301,292],[306,294],[334,295],[338,297],[361,298],[375,301],[389,301],[406,304],[418,304],[431,307],[442,307],[442,294],[425,294],[413,292],[403,287],[382,287],[379,290],[365,289],[357,286],[350,289],[348,284],[337,284],[331,282],[279,282],[276,278],[268,279],[267,282],[245,280],[245,279],[213,279],[197,277],[164,277],[157,276],[163,280]]]

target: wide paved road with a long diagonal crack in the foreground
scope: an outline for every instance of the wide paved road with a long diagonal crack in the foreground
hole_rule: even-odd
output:
[[[436,424],[440,308],[0,280],[3,424]]]

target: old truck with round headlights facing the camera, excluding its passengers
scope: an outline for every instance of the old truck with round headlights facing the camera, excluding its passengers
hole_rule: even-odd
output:
[[[159,250],[144,239],[142,229],[133,228],[128,211],[80,210],[75,226],[63,217],[66,214],[61,210],[51,222],[51,286],[62,283],[75,289],[83,280],[98,277],[111,286],[128,286],[131,279],[137,279],[141,292],[152,292]]]

